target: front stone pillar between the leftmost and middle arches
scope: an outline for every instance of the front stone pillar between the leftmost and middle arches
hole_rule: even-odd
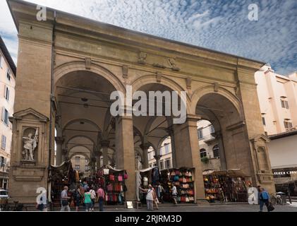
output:
[[[131,116],[116,119],[116,169],[126,169],[126,201],[136,198],[135,150],[133,138],[133,119]]]

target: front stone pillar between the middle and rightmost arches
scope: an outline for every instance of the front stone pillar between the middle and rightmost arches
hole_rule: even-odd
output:
[[[184,124],[174,125],[176,166],[195,168],[195,200],[205,203],[205,188],[197,137],[197,121],[200,117],[188,115]]]

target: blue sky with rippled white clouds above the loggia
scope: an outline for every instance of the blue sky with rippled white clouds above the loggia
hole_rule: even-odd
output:
[[[150,35],[265,61],[297,71],[297,0],[26,0]],[[249,20],[256,4],[257,20]],[[13,60],[18,38],[5,0],[0,35]]]

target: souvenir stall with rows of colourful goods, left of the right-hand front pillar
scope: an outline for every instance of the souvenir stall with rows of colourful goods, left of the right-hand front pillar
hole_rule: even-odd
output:
[[[163,201],[172,202],[172,187],[176,186],[178,203],[195,202],[195,183],[193,168],[164,169],[161,171],[164,188]]]

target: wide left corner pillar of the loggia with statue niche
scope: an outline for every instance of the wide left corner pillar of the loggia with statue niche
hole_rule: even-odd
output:
[[[28,6],[11,1],[11,13],[23,11],[16,20],[18,26],[18,71],[9,170],[11,201],[35,205],[37,189],[48,189],[49,119],[51,112],[52,13],[47,23],[30,16]],[[34,160],[26,160],[23,137],[37,136]],[[36,134],[35,134],[36,133]],[[28,140],[27,142],[30,142]],[[54,150],[52,150],[54,151]]]

